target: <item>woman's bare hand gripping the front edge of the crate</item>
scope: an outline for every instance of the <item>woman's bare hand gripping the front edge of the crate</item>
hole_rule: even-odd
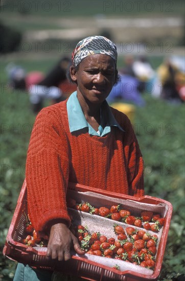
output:
[[[47,257],[67,261],[71,259],[70,249],[74,247],[78,254],[84,254],[78,243],[78,239],[64,223],[57,223],[51,227],[48,243]]]

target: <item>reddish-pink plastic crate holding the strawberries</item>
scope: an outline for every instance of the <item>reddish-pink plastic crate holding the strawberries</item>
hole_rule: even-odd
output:
[[[70,261],[67,262],[48,261],[45,258],[45,253],[47,248],[30,247],[20,243],[21,239],[25,237],[26,217],[24,215],[23,210],[27,212],[26,181],[22,185],[22,189],[17,201],[17,206],[8,231],[6,244],[3,250],[4,255],[11,260],[24,264],[29,264],[32,267],[48,269],[48,270],[58,270],[70,274],[73,273],[76,276],[80,276],[87,280],[92,280],[92,281],[156,280],[160,273],[161,264],[163,262],[163,257],[165,253],[168,231],[170,227],[170,220],[172,216],[171,203],[151,196],[143,196],[141,198],[136,198],[128,195],[120,195],[113,192],[107,192],[100,189],[93,189],[90,188],[89,186],[84,186],[81,184],[70,183],[68,186],[68,195],[71,197],[71,195],[74,196],[75,194],[77,194],[77,198],[82,197],[82,200],[83,198],[85,200],[85,198],[87,197],[89,198],[89,200],[92,201],[95,200],[96,202],[98,202],[97,200],[100,200],[102,202],[102,200],[104,200],[105,198],[106,203],[109,202],[109,204],[113,202],[119,203],[120,201],[124,200],[122,202],[125,202],[128,205],[128,207],[129,205],[135,206],[133,208],[135,208],[136,212],[137,212],[137,207],[143,210],[144,209],[149,210],[156,207],[160,208],[161,212],[165,214],[165,224],[163,228],[161,228],[160,230],[158,249],[156,254],[156,264],[154,270],[150,275],[141,266],[133,265],[133,268],[131,269],[129,269],[129,266],[127,266],[127,268],[125,268],[124,270],[117,270],[110,267],[110,265],[107,266],[107,263],[109,263],[107,260],[110,259],[106,259],[102,257],[101,259],[104,259],[104,261],[106,260],[107,262],[101,264],[100,262],[97,262],[97,260],[95,262],[87,259],[87,257],[75,255],[75,252],[72,255],[72,259]],[[98,218],[99,217],[97,217],[97,220]],[[109,219],[105,219],[105,220],[109,220]],[[115,265],[117,263],[117,260],[113,260],[113,261],[114,261],[113,264]],[[121,261],[121,263],[126,263],[126,262]]]

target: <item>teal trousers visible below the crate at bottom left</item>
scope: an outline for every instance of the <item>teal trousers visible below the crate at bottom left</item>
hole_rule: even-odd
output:
[[[80,281],[80,277],[18,263],[13,281]]]

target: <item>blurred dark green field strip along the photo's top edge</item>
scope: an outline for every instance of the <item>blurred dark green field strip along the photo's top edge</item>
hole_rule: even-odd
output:
[[[4,5],[3,5],[4,3]],[[117,1],[117,0],[70,0],[70,1],[38,1],[32,0],[2,0],[1,11],[4,13],[22,13],[43,16],[90,16],[90,15],[146,15],[147,13],[163,13],[183,15],[183,1]]]

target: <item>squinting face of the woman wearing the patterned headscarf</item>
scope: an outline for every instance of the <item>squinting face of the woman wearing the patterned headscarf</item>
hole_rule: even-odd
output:
[[[77,95],[86,102],[102,103],[109,95],[115,82],[115,62],[107,55],[90,55],[83,59],[71,77],[77,83]]]

